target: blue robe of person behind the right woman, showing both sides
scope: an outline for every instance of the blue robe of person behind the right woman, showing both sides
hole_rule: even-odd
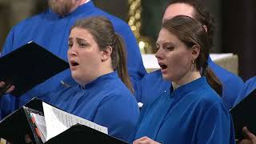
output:
[[[238,93],[242,90],[243,81],[242,78],[232,74],[228,70],[218,66],[212,60],[208,59],[210,69],[214,71],[214,74],[222,82],[222,98],[228,109],[234,106],[234,101],[238,97]],[[146,74],[142,78],[141,85],[136,92],[136,98],[138,102],[148,104],[154,102],[161,94],[166,93],[170,89],[170,83],[162,79],[161,70],[156,70],[149,74]]]

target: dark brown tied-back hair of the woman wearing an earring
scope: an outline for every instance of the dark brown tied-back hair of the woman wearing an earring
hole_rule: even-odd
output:
[[[190,49],[196,45],[200,48],[198,58],[195,59],[195,67],[206,76],[207,82],[219,94],[222,95],[222,83],[210,70],[207,59],[210,52],[210,42],[201,22],[187,16],[176,16],[166,20],[162,28],[176,35]]]

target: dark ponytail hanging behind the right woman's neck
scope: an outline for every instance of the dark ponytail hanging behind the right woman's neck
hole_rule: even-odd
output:
[[[210,69],[209,66],[206,67],[206,80],[221,97],[222,97],[222,82],[214,74],[214,71]]]

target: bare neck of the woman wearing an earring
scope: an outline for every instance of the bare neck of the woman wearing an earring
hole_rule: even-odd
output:
[[[172,86],[174,90],[179,86],[185,85],[186,83],[193,82],[194,80],[201,78],[201,74],[199,71],[191,71],[189,74],[186,74],[184,77],[177,81],[172,82]]]

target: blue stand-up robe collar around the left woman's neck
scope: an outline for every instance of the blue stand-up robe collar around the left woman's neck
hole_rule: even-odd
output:
[[[104,74],[104,75],[94,79],[93,81],[87,83],[85,86],[79,86],[79,87],[83,90],[88,90],[94,86],[98,86],[98,85],[106,82],[106,80],[114,79],[114,78],[118,78],[118,73],[116,71],[111,72],[109,74]]]

